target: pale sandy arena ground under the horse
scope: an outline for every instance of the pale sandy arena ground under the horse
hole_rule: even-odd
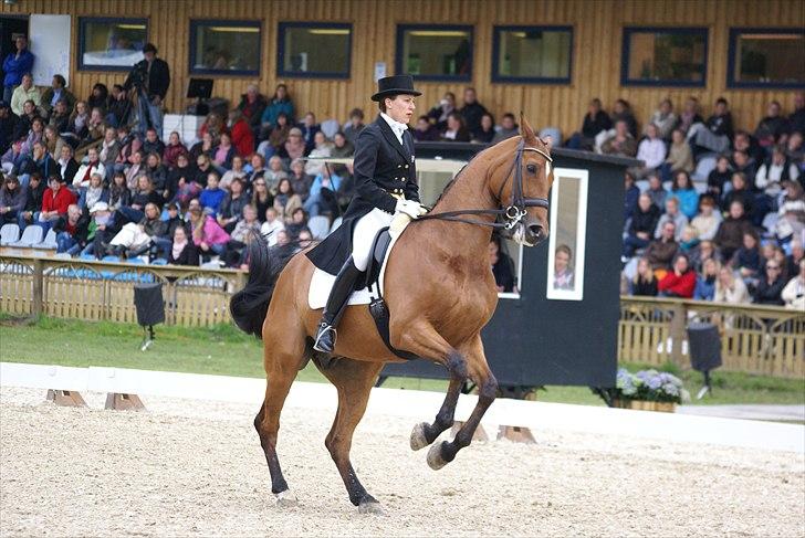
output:
[[[0,390],[0,535],[805,535],[802,454],[544,431],[534,445],[473,443],[435,472],[408,447],[409,421],[370,418],[353,463],[385,514],[360,515],[324,449],[333,413],[283,415],[300,502],[282,508],[252,407],[144,399],[147,412],[116,412],[85,397],[91,409],[69,409]]]

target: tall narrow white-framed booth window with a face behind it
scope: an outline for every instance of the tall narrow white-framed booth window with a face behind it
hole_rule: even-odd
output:
[[[547,298],[584,298],[587,171],[557,168],[551,190]]]

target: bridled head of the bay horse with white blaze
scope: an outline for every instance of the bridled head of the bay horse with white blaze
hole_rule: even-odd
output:
[[[542,140],[520,115],[521,136],[500,143],[489,188],[506,213],[509,236],[534,246],[548,234],[548,192],[553,184],[551,139]]]

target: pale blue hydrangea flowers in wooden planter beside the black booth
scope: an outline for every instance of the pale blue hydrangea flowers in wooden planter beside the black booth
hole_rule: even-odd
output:
[[[613,403],[616,408],[639,409],[642,411],[675,412],[677,403],[690,400],[682,380],[657,370],[629,372],[618,370]]]

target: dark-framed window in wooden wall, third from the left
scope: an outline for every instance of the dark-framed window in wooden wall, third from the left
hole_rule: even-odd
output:
[[[352,24],[281,22],[276,74],[349,78]]]

